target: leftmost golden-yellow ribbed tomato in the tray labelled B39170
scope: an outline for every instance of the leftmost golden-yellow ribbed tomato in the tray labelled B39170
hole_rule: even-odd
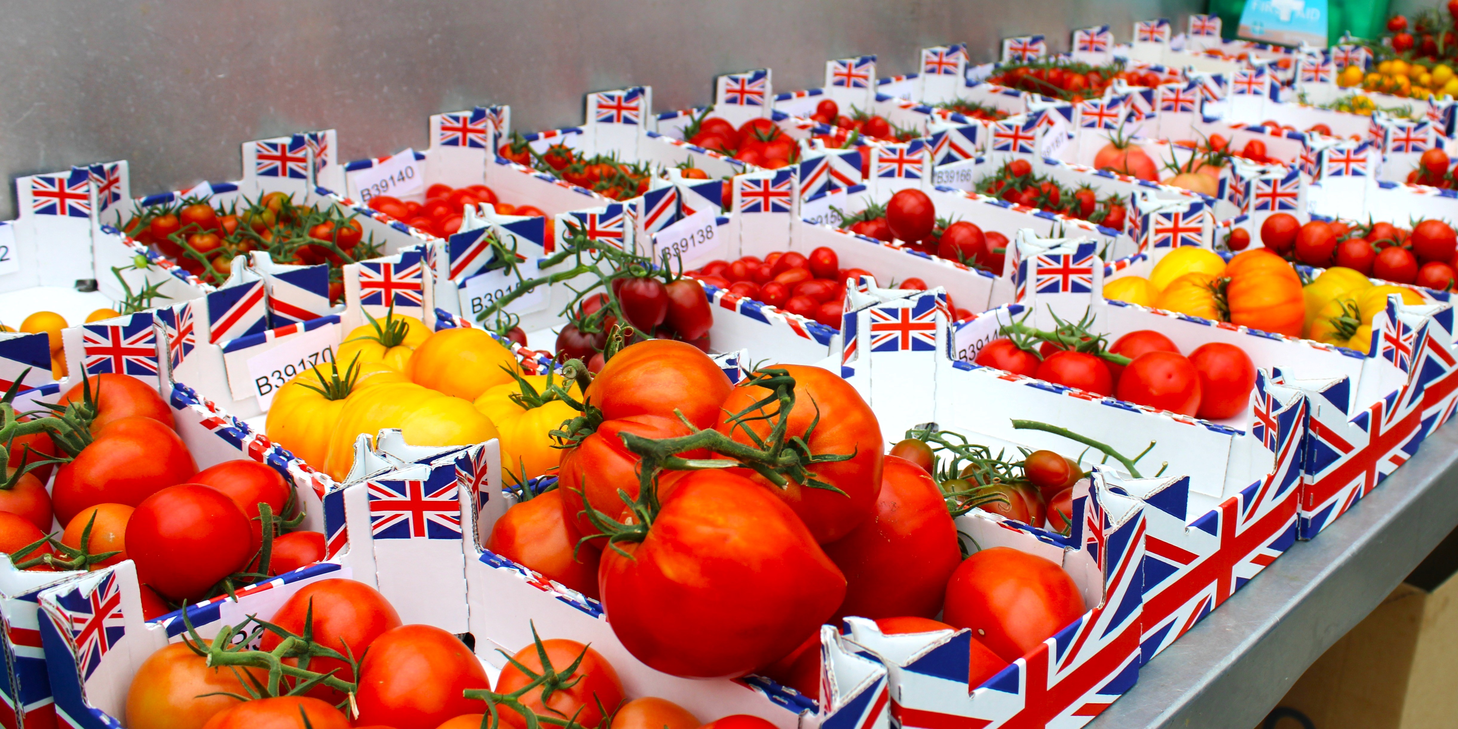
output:
[[[405,375],[372,362],[338,372],[334,363],[319,364],[290,379],[274,394],[264,432],[305,464],[322,469],[330,439],[351,394],[388,382],[408,382]]]

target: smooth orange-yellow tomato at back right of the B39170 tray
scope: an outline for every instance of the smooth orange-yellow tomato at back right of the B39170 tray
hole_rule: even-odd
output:
[[[521,364],[512,350],[483,330],[442,330],[416,347],[410,359],[410,381],[465,399],[488,388],[515,383]]]

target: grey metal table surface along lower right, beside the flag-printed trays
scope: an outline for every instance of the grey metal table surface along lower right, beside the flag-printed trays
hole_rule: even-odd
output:
[[[1458,426],[1149,662],[1091,729],[1258,726],[1458,525]]]

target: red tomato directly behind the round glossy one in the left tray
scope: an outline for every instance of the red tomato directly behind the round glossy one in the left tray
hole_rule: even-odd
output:
[[[112,420],[93,434],[92,443],[74,461],[55,471],[51,503],[61,523],[70,523],[77,512],[99,503],[137,506],[197,472],[182,439],[150,417]]]

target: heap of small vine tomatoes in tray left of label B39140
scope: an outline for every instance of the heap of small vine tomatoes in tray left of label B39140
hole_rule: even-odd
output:
[[[379,255],[379,243],[364,241],[354,216],[332,206],[300,206],[286,192],[267,192],[243,204],[214,207],[204,198],[175,204],[139,206],[122,230],[204,283],[220,284],[233,270],[233,257],[265,251],[278,264],[330,264],[330,300],[343,297],[343,265]]]

